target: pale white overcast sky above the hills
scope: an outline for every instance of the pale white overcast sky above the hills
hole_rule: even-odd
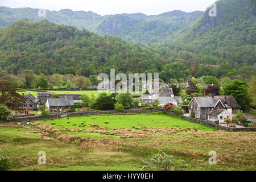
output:
[[[93,11],[100,15],[144,13],[156,15],[172,10],[204,11],[216,0],[0,0],[0,6],[47,10]]]

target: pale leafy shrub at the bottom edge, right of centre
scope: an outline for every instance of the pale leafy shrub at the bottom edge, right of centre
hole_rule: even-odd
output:
[[[176,160],[173,156],[167,155],[164,152],[153,155],[151,159],[142,160],[145,171],[182,171],[184,168],[189,168],[184,160]]]

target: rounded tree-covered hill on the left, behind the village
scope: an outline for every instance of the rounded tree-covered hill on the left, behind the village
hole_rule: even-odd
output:
[[[0,31],[0,67],[9,73],[32,69],[52,75],[98,75],[110,68],[123,73],[159,72],[163,59],[155,52],[131,45],[121,38],[105,38],[75,27],[47,20],[27,19]]]

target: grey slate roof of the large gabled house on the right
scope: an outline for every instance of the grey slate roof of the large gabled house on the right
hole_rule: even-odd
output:
[[[225,97],[226,97],[226,103],[225,103]],[[214,98],[210,96],[206,96],[206,97],[194,97],[193,99],[196,100],[197,104],[199,104],[200,107],[214,107],[214,105],[216,105],[219,101],[221,101],[226,108],[241,108],[241,106],[237,104],[237,101],[234,98],[234,96],[214,96]]]

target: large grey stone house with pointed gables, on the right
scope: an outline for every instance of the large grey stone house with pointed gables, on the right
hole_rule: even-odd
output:
[[[237,101],[233,96],[206,96],[206,97],[194,97],[189,102],[189,114],[193,111],[195,118],[206,120],[210,111],[217,109],[225,109],[231,114],[236,114],[241,110],[241,106],[237,104]]]

